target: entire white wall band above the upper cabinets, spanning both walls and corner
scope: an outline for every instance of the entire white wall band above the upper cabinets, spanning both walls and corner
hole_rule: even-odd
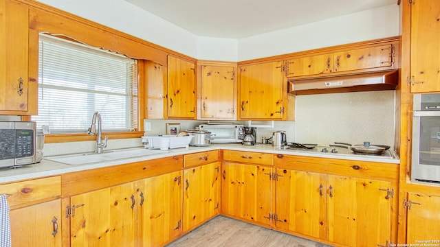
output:
[[[123,0],[39,1],[200,60],[237,62],[399,35],[397,4],[234,40],[195,36]]]

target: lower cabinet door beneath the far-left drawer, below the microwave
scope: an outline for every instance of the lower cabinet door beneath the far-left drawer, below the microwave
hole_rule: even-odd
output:
[[[14,247],[61,246],[61,199],[11,210],[10,222]]]

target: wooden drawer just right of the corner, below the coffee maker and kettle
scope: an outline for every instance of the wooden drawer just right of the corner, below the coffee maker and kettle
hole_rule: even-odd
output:
[[[236,161],[239,163],[254,163],[258,165],[273,165],[273,154],[265,154],[260,152],[244,152],[244,151],[223,151],[224,161]]]

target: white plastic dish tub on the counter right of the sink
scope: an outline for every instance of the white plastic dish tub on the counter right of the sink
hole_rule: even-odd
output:
[[[188,148],[192,136],[176,137],[174,134],[142,137],[145,148],[168,150],[173,148]]]

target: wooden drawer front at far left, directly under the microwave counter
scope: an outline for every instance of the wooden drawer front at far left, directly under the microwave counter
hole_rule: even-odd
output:
[[[10,195],[10,207],[61,196],[61,176],[0,185],[0,194]]]

